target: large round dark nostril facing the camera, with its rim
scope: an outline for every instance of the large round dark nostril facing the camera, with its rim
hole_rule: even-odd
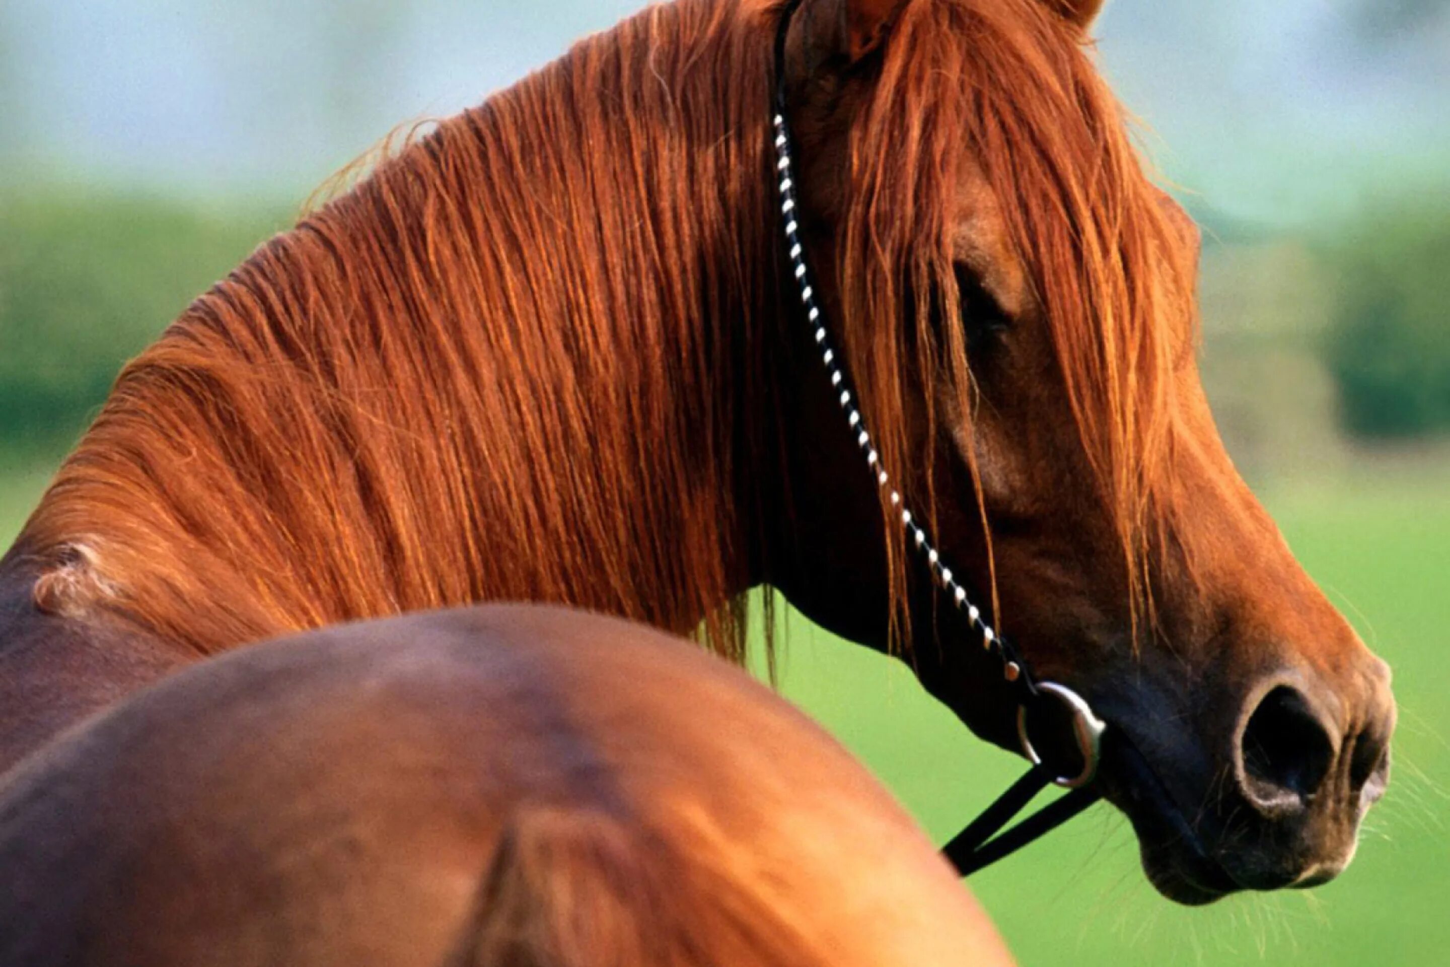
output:
[[[1334,742],[1298,690],[1279,686],[1264,696],[1238,741],[1240,783],[1263,810],[1302,808],[1334,763]]]

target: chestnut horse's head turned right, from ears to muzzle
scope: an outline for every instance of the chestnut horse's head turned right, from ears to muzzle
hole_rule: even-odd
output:
[[[871,458],[898,477],[871,486],[840,387],[805,377],[793,425],[812,442],[790,478],[811,497],[771,580],[848,638],[905,644],[934,694],[1015,747],[1000,674],[972,657],[980,626],[900,539],[906,497],[929,518],[908,536],[922,526],[958,568],[945,584],[1109,722],[1099,787],[1164,895],[1314,886],[1383,794],[1389,670],[1219,441],[1195,361],[1198,231],[1085,51],[1099,6],[793,13],[802,241]]]

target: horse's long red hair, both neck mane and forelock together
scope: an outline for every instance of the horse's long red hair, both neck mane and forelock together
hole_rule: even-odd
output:
[[[905,465],[908,386],[970,370],[951,336],[906,358],[900,284],[953,278],[947,203],[976,157],[1132,567],[1192,267],[1048,7],[909,4],[853,132],[840,323],[883,458]],[[652,7],[264,245],[120,375],[22,535],[39,605],[210,652],[542,600],[706,619],[740,655],[755,516],[738,483],[779,464],[777,16]],[[899,532],[887,547],[900,589]]]

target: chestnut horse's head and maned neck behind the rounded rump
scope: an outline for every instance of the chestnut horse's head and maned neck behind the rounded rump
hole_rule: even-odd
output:
[[[1383,792],[1389,673],[1293,560],[1196,367],[1196,232],[1086,52],[1099,0],[805,0],[800,238],[887,493],[799,329],[787,4],[679,0],[445,120],[132,362],[0,577],[0,761],[246,642],[487,600],[744,649],[771,586],[1015,703],[918,509],[1167,896],[1309,886]],[[793,4],[792,4],[793,9]]]

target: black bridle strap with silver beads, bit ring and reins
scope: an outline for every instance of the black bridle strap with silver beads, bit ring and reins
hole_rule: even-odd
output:
[[[922,529],[919,519],[906,507],[905,497],[892,487],[890,474],[880,465],[880,455],[876,452],[871,435],[866,429],[866,418],[856,406],[857,397],[851,391],[851,383],[844,368],[845,364],[831,345],[831,333],[825,328],[821,307],[815,299],[815,290],[811,286],[811,271],[806,268],[805,249],[799,233],[800,226],[796,215],[796,191],[790,161],[792,139],[789,125],[786,123],[786,35],[790,29],[792,14],[795,14],[799,6],[800,0],[792,0],[792,3],[786,4],[779,32],[776,33],[776,103],[773,126],[786,249],[790,258],[792,274],[800,287],[800,303],[805,309],[806,322],[811,326],[811,338],[821,352],[821,361],[825,365],[826,375],[831,378],[831,386],[841,394],[841,410],[845,413],[851,433],[856,436],[856,442],[866,457],[866,464],[876,477],[877,486],[887,494],[893,513],[900,515],[906,536],[925,558],[935,583],[948,594],[957,610],[966,615],[970,626],[980,634],[983,651],[995,654],[1000,660],[1003,680],[1016,693],[1018,742],[1021,744],[1022,755],[1032,764],[1022,779],[942,850],[961,876],[970,876],[982,867],[1016,852],[1098,802],[1101,794],[1092,787],[1092,781],[1098,774],[1098,763],[1102,757],[1102,734],[1106,725],[1093,713],[1092,706],[1072,689],[1053,681],[1035,681],[1032,678],[1024,658],[987,623],[982,610],[972,603],[967,589],[957,581],[951,568],[942,560],[941,552],[932,545],[925,529]],[[1082,757],[1082,768],[1069,771],[1066,776],[1054,773],[1053,767],[1038,754],[1030,735],[1030,725],[1034,715],[1040,713],[1048,703],[1057,703],[1072,718],[1073,742]],[[1002,835],[996,835],[1032,802],[1037,793],[1050,784],[1057,784],[1072,792]]]

